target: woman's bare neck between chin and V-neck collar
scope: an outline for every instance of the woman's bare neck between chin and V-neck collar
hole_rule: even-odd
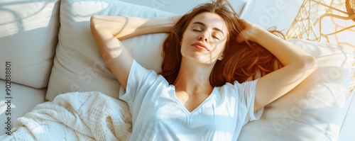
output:
[[[178,77],[174,81],[175,91],[187,94],[209,94],[212,86],[209,83],[213,65],[197,64],[182,58]]]

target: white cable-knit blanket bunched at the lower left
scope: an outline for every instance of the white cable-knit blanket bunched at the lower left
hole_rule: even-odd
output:
[[[128,105],[100,92],[61,94],[16,120],[0,140],[129,140]]]

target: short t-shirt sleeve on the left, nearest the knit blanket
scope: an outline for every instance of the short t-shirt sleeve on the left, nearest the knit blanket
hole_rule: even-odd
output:
[[[142,67],[136,60],[133,60],[126,89],[121,86],[119,98],[126,101],[130,107],[133,101],[143,101],[144,94],[151,88],[157,78],[156,72]]]

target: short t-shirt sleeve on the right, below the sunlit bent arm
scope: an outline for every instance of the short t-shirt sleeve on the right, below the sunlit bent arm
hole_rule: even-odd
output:
[[[257,81],[258,79],[253,81],[246,81],[241,84],[238,81],[234,83],[234,86],[236,86],[237,91],[239,91],[239,103],[241,104],[239,107],[245,108],[241,111],[246,112],[246,117],[244,118],[243,125],[245,125],[251,120],[258,120],[261,117],[261,114],[263,113],[263,108],[260,108],[258,111],[254,112],[254,101]]]

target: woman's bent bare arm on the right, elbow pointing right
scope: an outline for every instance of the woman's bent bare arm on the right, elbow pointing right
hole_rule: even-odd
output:
[[[270,51],[285,66],[261,77],[256,84],[254,111],[268,105],[295,88],[317,69],[317,62],[299,47],[245,20],[239,20],[244,31],[237,38],[258,43]]]

